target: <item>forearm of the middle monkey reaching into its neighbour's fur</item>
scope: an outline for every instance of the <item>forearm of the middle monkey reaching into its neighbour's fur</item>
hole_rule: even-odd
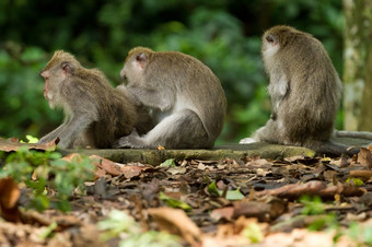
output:
[[[161,111],[170,110],[174,106],[175,93],[165,86],[161,90],[128,86],[127,90],[143,105]]]

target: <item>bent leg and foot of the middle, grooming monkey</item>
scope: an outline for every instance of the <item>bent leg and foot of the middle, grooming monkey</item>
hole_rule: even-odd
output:
[[[184,109],[165,117],[143,137],[130,134],[120,138],[116,148],[208,149],[210,140],[200,118],[193,110]]]

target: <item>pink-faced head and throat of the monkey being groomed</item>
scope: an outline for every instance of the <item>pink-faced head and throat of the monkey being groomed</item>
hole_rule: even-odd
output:
[[[45,80],[44,96],[51,108],[59,104],[59,90],[61,83],[73,75],[81,68],[80,62],[69,52],[57,50],[50,61],[42,70],[40,75]]]

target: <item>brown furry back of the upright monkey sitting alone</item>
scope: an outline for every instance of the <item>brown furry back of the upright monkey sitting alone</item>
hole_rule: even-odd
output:
[[[328,140],[340,101],[341,84],[323,45],[309,34],[280,50],[289,94],[279,108],[290,142],[306,145]]]

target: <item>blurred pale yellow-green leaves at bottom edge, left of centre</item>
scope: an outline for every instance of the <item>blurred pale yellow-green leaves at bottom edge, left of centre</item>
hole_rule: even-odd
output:
[[[101,238],[104,242],[120,236],[123,239],[119,243],[120,247],[182,246],[176,236],[167,233],[155,231],[142,233],[140,225],[131,216],[118,210],[111,211],[108,217],[98,222],[97,226],[103,231]]]

